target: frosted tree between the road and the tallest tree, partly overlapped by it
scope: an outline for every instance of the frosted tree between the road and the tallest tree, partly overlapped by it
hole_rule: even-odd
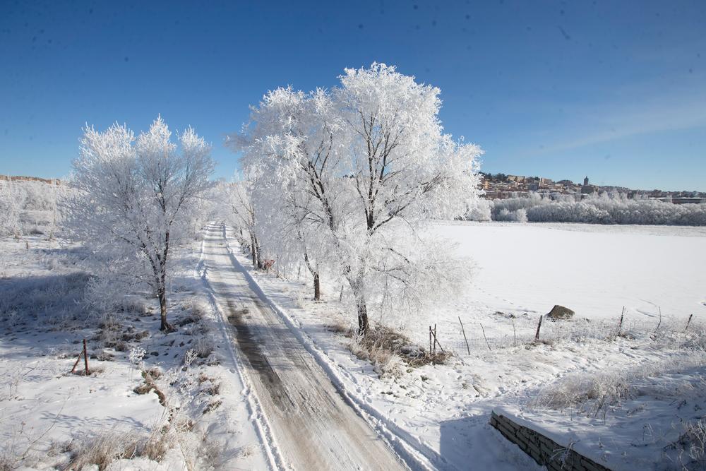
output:
[[[250,193],[261,208],[258,224],[265,246],[280,266],[304,261],[316,300],[321,298],[320,267],[330,256],[331,244],[325,239],[336,227],[337,118],[323,90],[305,95],[279,88],[253,108],[249,129],[229,139],[244,151],[243,167],[257,181]]]

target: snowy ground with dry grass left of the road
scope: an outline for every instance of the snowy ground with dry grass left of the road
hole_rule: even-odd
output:
[[[0,244],[0,468],[268,467],[237,365],[194,278],[198,244],[172,283],[178,330],[168,335],[145,293],[91,289],[80,246]],[[83,338],[89,376],[70,373]]]

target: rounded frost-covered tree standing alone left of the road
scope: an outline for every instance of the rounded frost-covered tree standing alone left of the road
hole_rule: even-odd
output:
[[[193,129],[172,132],[158,117],[135,138],[126,126],[86,128],[73,162],[68,201],[71,232],[85,241],[109,270],[147,283],[167,323],[170,251],[193,230],[199,198],[211,186],[210,146]]]

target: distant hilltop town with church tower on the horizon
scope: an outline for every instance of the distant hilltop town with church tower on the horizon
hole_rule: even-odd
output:
[[[542,177],[480,173],[483,177],[481,188],[489,199],[516,198],[528,196],[532,192],[545,196],[561,194],[581,197],[602,193],[623,193],[628,198],[658,199],[676,204],[706,203],[706,193],[699,191],[633,190],[624,186],[592,185],[588,176],[583,179],[583,184],[580,184],[571,180],[554,181]]]

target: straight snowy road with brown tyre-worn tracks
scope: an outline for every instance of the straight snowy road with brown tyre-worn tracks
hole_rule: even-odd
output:
[[[203,245],[213,289],[279,465],[295,470],[395,470],[405,465],[339,393],[230,256],[222,226]]]

